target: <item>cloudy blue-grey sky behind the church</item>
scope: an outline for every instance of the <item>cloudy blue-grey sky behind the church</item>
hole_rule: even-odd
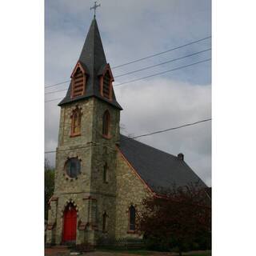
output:
[[[211,35],[209,0],[102,0],[96,18],[107,62],[118,66]],[[45,85],[66,81],[78,61],[93,18],[93,1],[45,1]],[[113,69],[114,77],[146,66],[206,50],[189,58],[115,78],[114,85],[211,58],[210,38]],[[46,93],[68,84],[46,88]],[[123,110],[122,133],[139,135],[211,118],[211,63],[130,82],[114,88]],[[66,91],[46,94],[49,101]],[[45,103],[45,150],[58,144],[60,99]],[[140,142],[177,155],[211,186],[211,122],[138,138]],[[46,154],[54,166],[54,154]]]

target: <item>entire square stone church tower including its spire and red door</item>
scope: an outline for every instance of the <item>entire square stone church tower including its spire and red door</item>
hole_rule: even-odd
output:
[[[115,236],[118,104],[94,17],[61,107],[46,243]]]

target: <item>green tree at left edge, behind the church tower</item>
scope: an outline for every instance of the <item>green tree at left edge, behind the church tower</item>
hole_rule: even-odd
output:
[[[48,202],[54,194],[54,168],[45,159],[45,219],[48,219]]]

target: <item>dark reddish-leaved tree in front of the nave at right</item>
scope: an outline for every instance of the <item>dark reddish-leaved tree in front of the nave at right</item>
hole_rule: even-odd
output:
[[[174,187],[144,199],[142,205],[137,229],[146,239],[165,242],[168,248],[177,246],[182,255],[185,246],[200,236],[210,238],[211,207],[203,188],[193,184]]]

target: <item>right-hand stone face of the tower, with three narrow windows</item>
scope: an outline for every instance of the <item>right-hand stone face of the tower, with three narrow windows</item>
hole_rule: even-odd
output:
[[[102,117],[104,112],[110,113],[110,138],[102,136]],[[119,140],[120,111],[95,98],[93,138],[98,146],[93,148],[91,190],[97,198],[98,232],[96,239],[114,238],[115,236],[115,203],[116,203],[116,142]],[[107,182],[103,180],[104,166],[107,165]],[[106,233],[102,232],[103,214],[107,214]]]

